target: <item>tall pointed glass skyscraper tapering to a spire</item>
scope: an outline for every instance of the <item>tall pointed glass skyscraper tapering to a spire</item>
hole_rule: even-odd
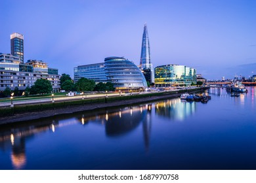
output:
[[[146,24],[144,25],[142,35],[140,69],[142,70],[147,82],[154,82],[154,69],[150,61],[150,44],[148,39],[148,27]]]

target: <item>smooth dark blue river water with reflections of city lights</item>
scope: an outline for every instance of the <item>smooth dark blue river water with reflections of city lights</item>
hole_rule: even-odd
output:
[[[256,169],[256,87],[0,126],[0,169]]]

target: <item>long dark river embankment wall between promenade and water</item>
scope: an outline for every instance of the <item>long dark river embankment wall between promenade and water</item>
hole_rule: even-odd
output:
[[[148,101],[156,101],[159,99],[172,99],[175,97],[180,97],[181,93],[188,92],[188,93],[196,93],[202,92],[203,90],[207,90],[207,88],[198,88],[194,90],[182,90],[177,91],[175,93],[167,93],[167,92],[157,92],[154,96],[154,93],[150,93],[150,96],[142,96],[133,99],[125,99],[125,100],[116,100],[116,101],[109,101],[104,103],[91,103],[85,104],[75,107],[66,107],[66,108],[54,108],[51,110],[41,110],[37,112],[24,112],[18,114],[12,114],[11,116],[0,117],[0,125],[3,124],[11,124],[14,122],[25,122],[29,120],[36,120],[40,118],[47,118],[51,116],[63,115],[63,114],[72,114],[74,112],[81,112],[81,111],[89,111],[89,110],[98,110],[100,108],[110,108],[110,107],[120,107],[120,106],[129,106],[137,103],[145,103]],[[138,95],[140,96],[140,95]]]

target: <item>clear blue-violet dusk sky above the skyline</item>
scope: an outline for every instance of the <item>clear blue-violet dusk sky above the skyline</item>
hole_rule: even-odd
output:
[[[207,79],[256,75],[256,0],[1,0],[0,52],[24,35],[24,60],[59,74],[125,57],[139,65],[148,25],[154,67],[177,64]],[[241,69],[242,68],[242,69]]]

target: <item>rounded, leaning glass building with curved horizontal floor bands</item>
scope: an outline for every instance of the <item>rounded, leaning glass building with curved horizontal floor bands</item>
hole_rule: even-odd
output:
[[[116,90],[137,90],[147,87],[139,67],[125,58],[109,57],[104,60],[106,78]]]

